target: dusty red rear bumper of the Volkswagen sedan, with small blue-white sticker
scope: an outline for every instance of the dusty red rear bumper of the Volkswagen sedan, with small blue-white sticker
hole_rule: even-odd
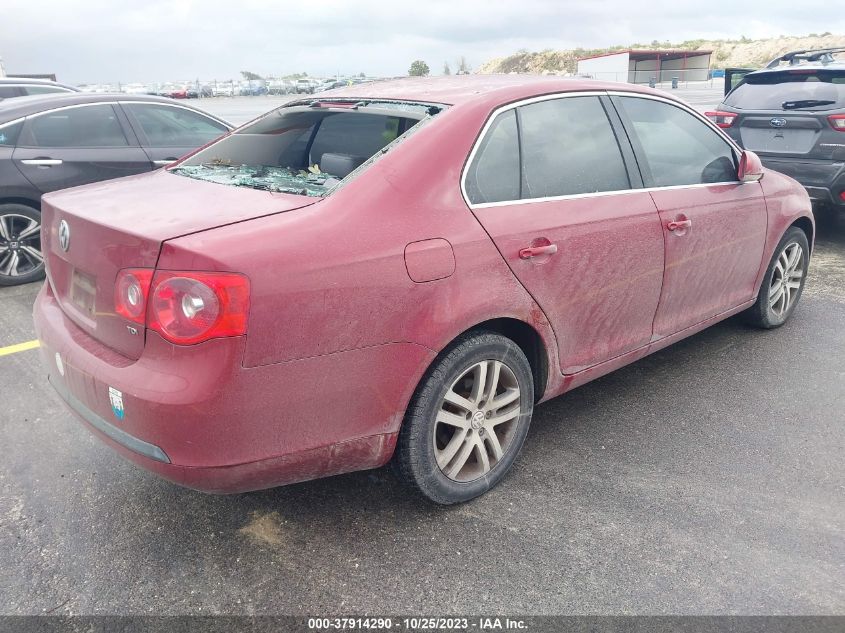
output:
[[[48,284],[34,318],[50,382],[95,435],[147,470],[215,493],[386,463],[433,357],[395,344],[244,368],[242,337],[178,347],[148,332],[132,361],[70,321]]]

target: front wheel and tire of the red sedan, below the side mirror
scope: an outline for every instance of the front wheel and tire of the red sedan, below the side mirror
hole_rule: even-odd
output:
[[[792,226],[775,248],[760,284],[757,301],[744,313],[745,321],[767,330],[786,323],[801,299],[809,263],[807,236],[804,231]]]

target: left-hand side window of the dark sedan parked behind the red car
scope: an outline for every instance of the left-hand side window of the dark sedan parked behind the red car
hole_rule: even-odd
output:
[[[24,147],[125,147],[129,145],[114,108],[108,104],[64,108],[29,119]]]

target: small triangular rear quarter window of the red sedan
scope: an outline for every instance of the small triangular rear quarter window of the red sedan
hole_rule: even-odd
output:
[[[516,110],[493,121],[467,170],[466,190],[473,204],[519,200]]]

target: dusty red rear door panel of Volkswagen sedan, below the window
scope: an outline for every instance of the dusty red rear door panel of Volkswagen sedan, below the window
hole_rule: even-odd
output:
[[[475,215],[552,322],[561,371],[575,373],[651,340],[663,232],[648,193],[488,207]],[[520,249],[536,237],[558,252],[521,259]]]

